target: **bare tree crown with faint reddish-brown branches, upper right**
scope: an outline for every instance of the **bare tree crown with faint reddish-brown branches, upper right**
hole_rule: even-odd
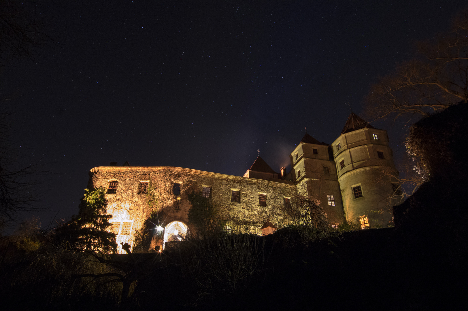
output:
[[[365,98],[370,119],[409,122],[468,100],[468,9],[457,14],[448,32],[417,42],[413,59],[380,78]]]

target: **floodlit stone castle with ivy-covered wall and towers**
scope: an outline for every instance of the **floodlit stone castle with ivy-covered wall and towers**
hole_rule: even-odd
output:
[[[275,172],[260,156],[242,177],[126,162],[91,169],[88,188],[107,189],[111,231],[117,234],[118,245],[132,245],[135,230],[155,208],[164,211],[164,219],[155,224],[163,231],[164,242],[186,234],[192,192],[212,198],[229,219],[256,234],[287,222],[283,208],[298,194],[320,200],[330,225],[338,226],[345,217],[365,229],[392,223],[389,208],[399,202],[393,198],[398,186],[392,178],[398,172],[392,155],[387,132],[351,112],[331,145],[306,133],[289,155],[292,170],[287,174],[285,167]],[[148,204],[148,192],[157,207]]]

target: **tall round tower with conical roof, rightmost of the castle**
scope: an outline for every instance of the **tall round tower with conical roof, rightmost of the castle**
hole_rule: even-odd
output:
[[[387,131],[351,112],[332,148],[346,219],[361,229],[391,223],[390,209],[398,202],[391,199],[395,184],[389,174],[398,176],[398,171]]]

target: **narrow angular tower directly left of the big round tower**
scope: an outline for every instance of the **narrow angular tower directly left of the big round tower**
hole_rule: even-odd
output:
[[[331,222],[341,222],[343,205],[331,146],[305,134],[289,155],[300,195],[320,200]]]

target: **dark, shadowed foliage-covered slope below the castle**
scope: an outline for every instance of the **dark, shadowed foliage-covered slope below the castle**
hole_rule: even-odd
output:
[[[306,234],[320,236],[305,242],[305,233],[292,227],[266,237],[230,235],[181,242],[163,254],[134,254],[153,258],[124,309],[419,310],[453,306],[464,295],[466,255],[453,260],[446,248],[441,253],[445,238],[424,241],[419,235],[424,247],[413,248],[398,228]],[[291,244],[293,238],[303,242]],[[130,255],[113,256],[130,261]],[[118,309],[121,285],[112,277],[73,277],[111,270],[86,254],[44,245],[3,262],[0,290],[8,310]]]

